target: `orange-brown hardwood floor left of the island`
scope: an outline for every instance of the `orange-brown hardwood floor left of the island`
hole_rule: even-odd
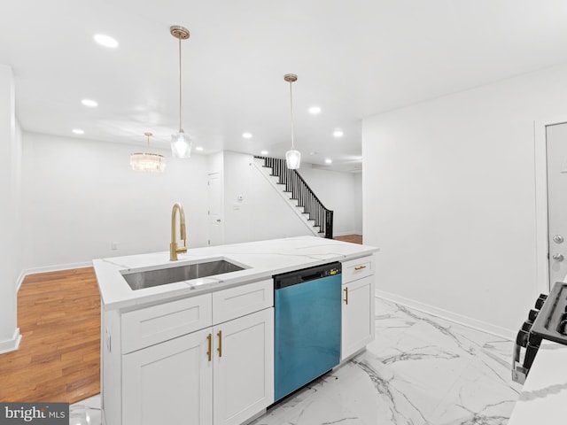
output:
[[[92,267],[28,275],[19,350],[0,354],[0,400],[74,403],[100,392],[100,295]]]

